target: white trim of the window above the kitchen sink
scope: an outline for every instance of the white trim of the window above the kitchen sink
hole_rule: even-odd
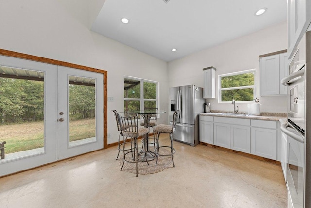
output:
[[[250,72],[254,74],[254,85],[221,88],[221,78],[222,77],[246,74],[246,73],[250,73]],[[248,69],[248,70],[244,70],[244,71],[232,72],[232,73],[218,75],[218,103],[231,103],[231,101],[221,101],[221,98],[222,98],[221,97],[221,91],[222,90],[236,90],[236,89],[245,89],[245,88],[253,88],[254,89],[253,99],[255,99],[255,96],[256,96],[256,69]],[[253,103],[253,100],[252,101],[236,101],[236,103]]]

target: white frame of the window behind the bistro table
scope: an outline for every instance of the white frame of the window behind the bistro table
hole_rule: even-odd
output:
[[[145,106],[144,101],[155,101],[156,108],[158,109],[160,108],[160,95],[159,95],[160,83],[159,82],[148,80],[148,79],[137,78],[133,76],[124,76],[123,81],[124,81],[124,78],[140,81],[140,98],[125,98],[123,95],[124,101],[140,101],[140,109],[144,109],[144,106]],[[156,99],[144,99],[144,82],[156,84]],[[124,110],[124,101],[123,101],[123,110]]]

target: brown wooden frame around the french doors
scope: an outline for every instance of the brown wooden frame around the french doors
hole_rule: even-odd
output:
[[[58,66],[65,66],[65,67],[69,67],[69,68],[74,68],[74,69],[81,69],[81,70],[86,70],[86,71],[91,71],[91,72],[97,72],[97,73],[101,73],[104,76],[104,149],[106,149],[108,147],[108,140],[107,140],[107,98],[108,98],[108,94],[107,94],[107,71],[105,70],[100,70],[100,69],[95,69],[92,67],[87,67],[87,66],[82,66],[82,65],[78,65],[78,64],[73,64],[73,63],[68,63],[65,61],[59,61],[59,60],[54,60],[54,59],[50,59],[50,58],[44,58],[44,57],[37,57],[37,56],[33,56],[33,55],[29,55],[29,54],[23,54],[23,53],[19,53],[19,52],[14,52],[14,51],[9,51],[9,50],[4,50],[4,49],[0,49],[0,55],[3,56],[8,56],[8,57],[16,57],[16,58],[22,58],[22,59],[27,59],[27,60],[31,60],[31,61],[38,61],[38,62],[42,62],[42,63],[48,63],[48,64],[53,64],[53,65],[58,65]]]

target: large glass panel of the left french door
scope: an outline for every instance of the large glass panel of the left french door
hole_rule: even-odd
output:
[[[1,66],[0,95],[2,159],[44,153],[44,72]]]

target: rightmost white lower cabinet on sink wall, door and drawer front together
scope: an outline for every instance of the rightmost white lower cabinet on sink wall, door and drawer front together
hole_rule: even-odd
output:
[[[277,160],[276,127],[276,121],[252,120],[251,154]]]

